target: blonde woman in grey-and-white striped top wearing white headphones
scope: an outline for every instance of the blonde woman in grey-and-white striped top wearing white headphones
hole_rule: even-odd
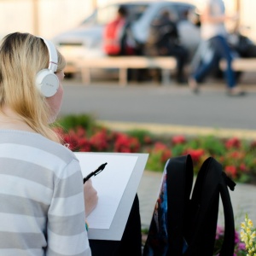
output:
[[[0,45],[0,255],[91,255],[97,203],[79,160],[51,130],[61,108],[63,56],[29,33]]]

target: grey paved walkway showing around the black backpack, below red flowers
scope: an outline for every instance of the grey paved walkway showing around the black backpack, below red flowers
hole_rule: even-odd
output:
[[[143,228],[148,228],[154,204],[160,189],[160,172],[143,172],[143,178],[138,188],[138,197],[140,200],[140,211]],[[244,220],[247,212],[249,218],[256,223],[256,186],[247,184],[236,184],[235,191],[230,191],[230,197],[233,204],[236,228],[240,228],[241,221]],[[219,207],[219,224],[224,224],[223,208]]]

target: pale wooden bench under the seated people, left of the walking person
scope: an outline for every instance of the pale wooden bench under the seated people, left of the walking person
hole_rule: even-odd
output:
[[[117,68],[119,69],[119,84],[128,84],[128,68],[160,68],[162,84],[170,84],[171,71],[176,68],[177,61],[174,57],[147,57],[147,56],[103,56],[98,58],[86,58],[81,61],[81,74],[84,84],[90,84],[93,68]]]

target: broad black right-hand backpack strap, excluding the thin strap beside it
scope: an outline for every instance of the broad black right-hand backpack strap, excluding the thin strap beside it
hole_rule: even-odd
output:
[[[185,255],[212,256],[218,221],[219,190],[222,168],[209,157],[198,172],[191,199]]]

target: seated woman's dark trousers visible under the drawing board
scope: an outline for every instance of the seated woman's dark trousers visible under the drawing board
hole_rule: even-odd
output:
[[[142,233],[139,201],[133,201],[121,241],[89,240],[93,256],[141,256]]]

